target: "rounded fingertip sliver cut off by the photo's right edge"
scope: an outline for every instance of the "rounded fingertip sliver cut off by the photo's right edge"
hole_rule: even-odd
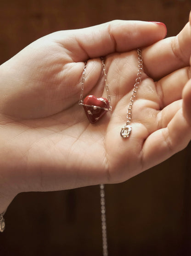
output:
[[[187,122],[191,125],[191,80],[185,85],[183,90],[183,113]]]

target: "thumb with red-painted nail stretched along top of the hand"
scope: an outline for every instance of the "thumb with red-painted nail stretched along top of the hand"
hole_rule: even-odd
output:
[[[96,58],[151,45],[166,36],[163,23],[115,20],[81,30],[53,33],[73,61]]]

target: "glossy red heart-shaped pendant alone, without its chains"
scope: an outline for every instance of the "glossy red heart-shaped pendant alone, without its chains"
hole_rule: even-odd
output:
[[[88,95],[84,99],[83,107],[90,123],[95,124],[109,111],[109,101],[105,98],[97,98],[96,96]]]

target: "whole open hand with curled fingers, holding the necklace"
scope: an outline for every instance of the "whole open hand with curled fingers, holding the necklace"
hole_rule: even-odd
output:
[[[123,182],[187,146],[191,18],[178,36],[165,35],[163,24],[138,21],[58,31],[0,66],[0,212],[23,191]],[[136,48],[144,73],[123,139]],[[85,60],[84,97],[106,97],[100,56],[113,111],[92,125],[78,101]]]

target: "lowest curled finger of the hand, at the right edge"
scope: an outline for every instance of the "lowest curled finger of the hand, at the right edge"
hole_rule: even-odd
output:
[[[190,140],[191,126],[181,108],[167,127],[153,132],[146,139],[142,149],[143,170],[159,164],[184,149]]]

